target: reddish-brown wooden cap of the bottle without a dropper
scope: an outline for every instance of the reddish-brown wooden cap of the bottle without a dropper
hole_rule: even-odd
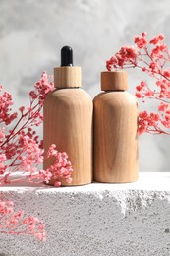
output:
[[[125,71],[103,71],[101,72],[101,90],[127,90],[128,73]]]

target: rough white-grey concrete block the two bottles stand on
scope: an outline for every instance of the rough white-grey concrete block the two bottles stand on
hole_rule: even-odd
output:
[[[4,187],[1,199],[37,215],[47,241],[0,235],[2,256],[169,256],[170,174],[131,184]]]

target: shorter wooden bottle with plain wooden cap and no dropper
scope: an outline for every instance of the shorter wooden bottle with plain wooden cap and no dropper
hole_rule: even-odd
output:
[[[126,92],[127,73],[101,72],[101,90],[94,98],[94,180],[123,183],[138,179],[138,107]]]

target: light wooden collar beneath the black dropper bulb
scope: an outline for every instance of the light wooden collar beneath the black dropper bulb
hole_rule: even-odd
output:
[[[81,80],[81,67],[54,68],[54,86],[56,88],[79,88]]]

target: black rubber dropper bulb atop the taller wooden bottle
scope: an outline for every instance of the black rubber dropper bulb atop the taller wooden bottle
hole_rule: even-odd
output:
[[[70,46],[61,49],[61,67],[73,66],[73,50]]]

